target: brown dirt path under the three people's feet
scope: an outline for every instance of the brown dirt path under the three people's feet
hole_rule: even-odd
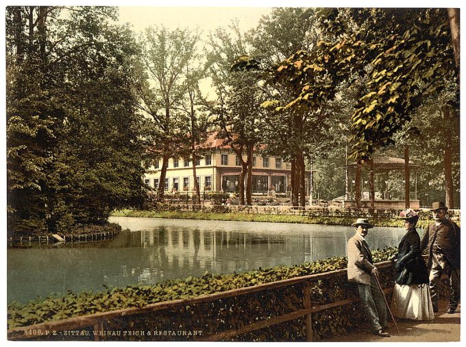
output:
[[[434,320],[417,322],[414,320],[396,320],[400,333],[393,322],[389,324],[390,337],[378,337],[369,329],[341,337],[334,337],[326,342],[459,342],[461,335],[461,307],[456,313],[447,313],[447,302],[441,301],[439,313]]]

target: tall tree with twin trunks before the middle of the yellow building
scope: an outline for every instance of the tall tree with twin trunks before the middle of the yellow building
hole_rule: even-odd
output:
[[[208,40],[208,71],[218,97],[218,101],[210,105],[210,112],[218,117],[221,128],[218,136],[227,141],[241,164],[238,182],[240,204],[250,205],[252,157],[258,143],[256,130],[260,117],[260,89],[254,72],[243,74],[230,70],[236,58],[247,51],[237,23],[232,23],[230,30],[232,34],[218,28]],[[243,154],[246,154],[246,160]]]

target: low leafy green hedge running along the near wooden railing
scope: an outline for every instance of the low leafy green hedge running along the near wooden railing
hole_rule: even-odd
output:
[[[395,248],[376,250],[374,261],[388,260],[395,254]],[[27,326],[50,320],[60,320],[102,311],[112,311],[130,307],[144,307],[147,304],[177,299],[195,298],[208,294],[271,283],[298,276],[320,274],[344,269],[345,257],[323,259],[301,265],[273,267],[254,270],[240,274],[213,275],[206,272],[201,277],[188,277],[184,280],[167,280],[154,286],[129,286],[114,288],[103,292],[85,291],[75,294],[71,291],[66,296],[49,296],[45,299],[30,301],[27,304],[13,302],[8,305],[8,328]],[[317,283],[311,289],[315,294],[322,293]],[[337,296],[336,291],[328,292],[328,300]]]

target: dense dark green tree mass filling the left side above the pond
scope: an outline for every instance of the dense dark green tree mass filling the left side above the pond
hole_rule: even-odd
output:
[[[127,28],[110,24],[115,15],[103,7],[7,10],[9,232],[102,224],[144,196],[137,47]]]

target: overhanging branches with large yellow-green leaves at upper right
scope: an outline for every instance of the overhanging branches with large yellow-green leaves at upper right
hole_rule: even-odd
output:
[[[365,160],[393,143],[423,95],[454,83],[447,15],[438,9],[322,13],[325,31],[335,36],[276,67],[275,80],[293,86],[295,96],[275,111],[318,110],[334,99],[337,86],[366,77],[351,119],[354,156]]]

